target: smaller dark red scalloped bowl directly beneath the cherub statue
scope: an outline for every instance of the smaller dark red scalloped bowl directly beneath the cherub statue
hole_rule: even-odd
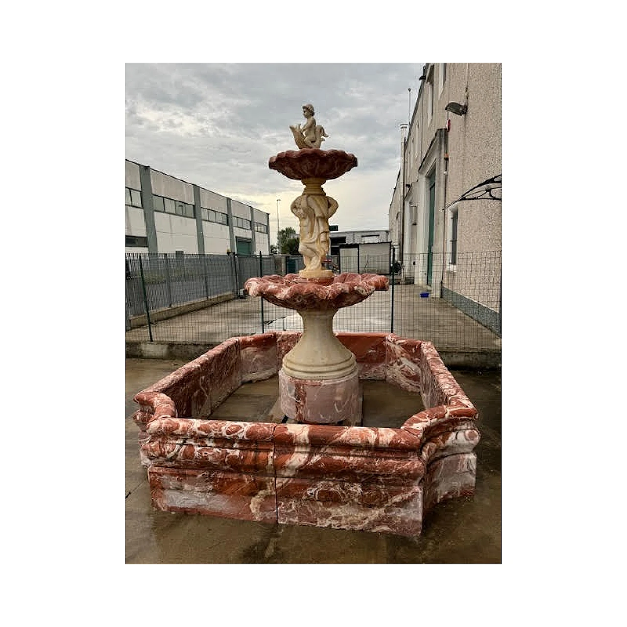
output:
[[[344,150],[303,148],[285,150],[270,157],[268,167],[295,181],[303,179],[337,179],[357,166],[357,157]]]

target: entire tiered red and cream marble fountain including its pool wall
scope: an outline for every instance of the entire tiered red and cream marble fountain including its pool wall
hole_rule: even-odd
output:
[[[303,182],[298,275],[251,278],[251,296],[296,310],[303,332],[233,337],[135,396],[142,464],[159,510],[271,524],[419,535],[423,517],[448,498],[473,495],[477,409],[431,344],[394,334],[339,333],[335,312],[387,290],[379,275],[334,275],[329,218],[337,202],[322,185],[357,166],[322,150],[329,137],[290,127],[299,150],[269,167]],[[282,423],[211,419],[247,382],[278,376]],[[362,381],[414,393],[425,409],[400,428],[361,426]]]

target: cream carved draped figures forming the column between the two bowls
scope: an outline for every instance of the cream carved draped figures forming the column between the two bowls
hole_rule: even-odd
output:
[[[337,201],[326,194],[302,194],[290,209],[300,221],[298,252],[305,261],[301,273],[320,273],[322,260],[329,255],[329,218],[337,211]]]

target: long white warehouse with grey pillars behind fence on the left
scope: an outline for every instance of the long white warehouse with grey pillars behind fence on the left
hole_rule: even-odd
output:
[[[270,254],[270,214],[126,160],[126,252]]]

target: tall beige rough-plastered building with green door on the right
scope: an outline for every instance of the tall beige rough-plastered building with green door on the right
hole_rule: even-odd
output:
[[[500,281],[501,64],[426,63],[420,83],[411,121],[401,125],[389,230],[406,278],[437,296],[455,290],[466,253],[496,251]],[[498,194],[460,200],[495,177]],[[410,256],[425,260],[413,275]]]

